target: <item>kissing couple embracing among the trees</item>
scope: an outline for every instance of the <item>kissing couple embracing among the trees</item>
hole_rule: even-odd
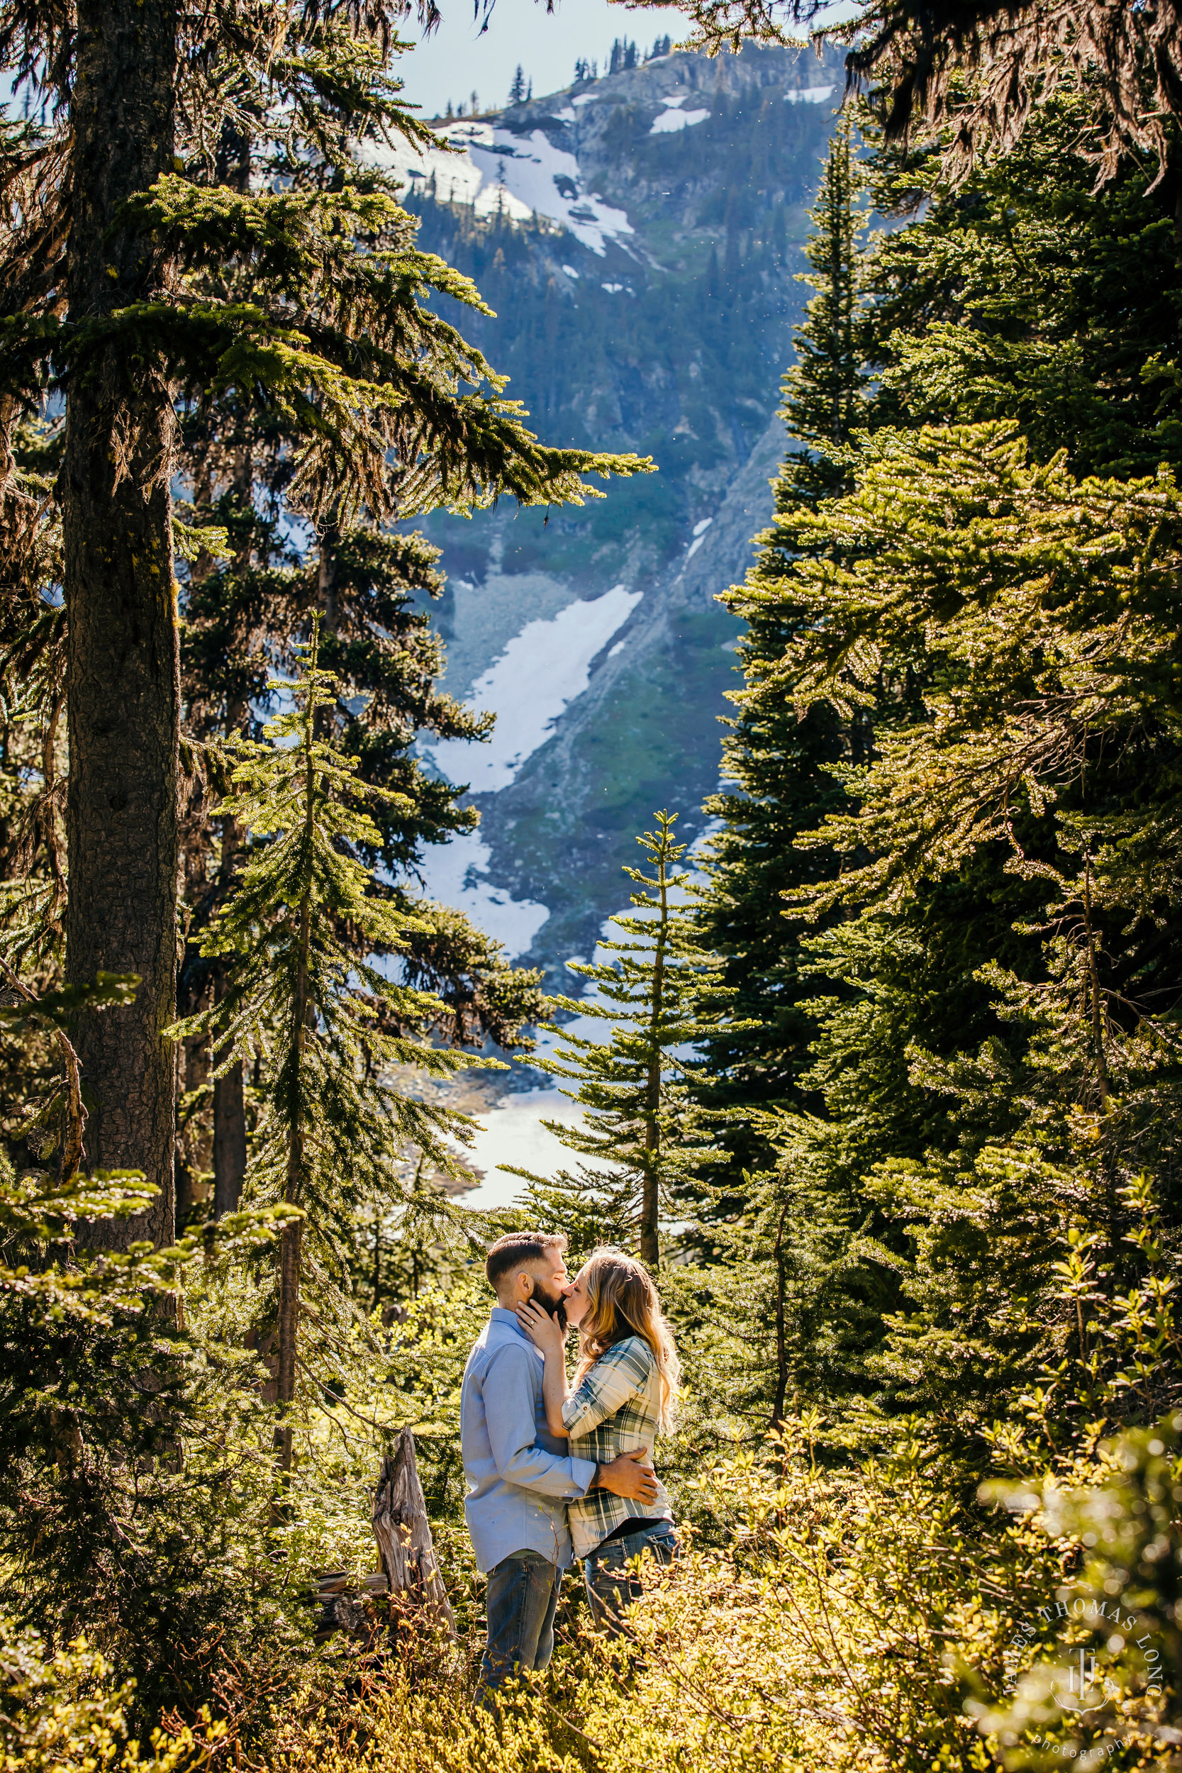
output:
[[[680,1369],[657,1291],[622,1250],[595,1250],[571,1280],[567,1239],[510,1232],[487,1254],[496,1294],[464,1367],[459,1404],[464,1514],[487,1574],[489,1636],[478,1702],[555,1647],[562,1573],[583,1562],[595,1626],[618,1633],[640,1583],[629,1560],[677,1555],[652,1468]],[[578,1330],[567,1385],[567,1326]]]

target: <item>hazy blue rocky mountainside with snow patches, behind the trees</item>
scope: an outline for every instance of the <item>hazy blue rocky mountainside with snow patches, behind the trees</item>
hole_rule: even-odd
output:
[[[434,518],[447,684],[498,713],[443,745],[478,835],[429,883],[546,965],[588,954],[656,807],[702,828],[718,782],[741,578],[771,514],[774,417],[808,294],[805,207],[842,90],[836,59],[665,55],[399,151],[422,245],[496,319],[455,316],[548,443],[634,449],[659,472],[581,511]]]

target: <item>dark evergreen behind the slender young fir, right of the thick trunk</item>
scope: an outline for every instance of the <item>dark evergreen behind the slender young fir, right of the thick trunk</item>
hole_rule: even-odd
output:
[[[268,463],[266,472],[282,473],[284,457]],[[498,945],[463,913],[427,906],[415,888],[422,846],[471,830],[477,819],[459,805],[459,789],[424,771],[415,757],[416,736],[427,730],[471,739],[491,725],[436,688],[443,647],[418,599],[443,589],[438,550],[418,535],[354,525],[326,530],[301,557],[276,535],[278,519],[261,518],[253,505],[243,509],[232,488],[209,507],[209,523],[218,521],[234,534],[236,551],[191,582],[186,599],[186,730],[198,741],[222,739],[243,727],[248,709],[264,709],[271,699],[268,663],[294,668],[298,637],[319,610],[321,660],[338,686],[335,706],[321,709],[319,720],[358,759],[363,780],[395,791],[393,800],[374,807],[381,844],[369,860],[381,863],[392,894],[420,926],[411,965],[416,982],[447,1004],[438,1034],[459,1043],[493,1037],[505,1048],[521,1044],[521,1025],[540,1009],[539,975],[507,966]],[[206,534],[195,530],[197,539]],[[223,966],[200,949],[234,878],[239,837],[211,794],[190,817],[184,837],[188,941],[181,1009],[193,1014],[222,989]],[[239,1066],[218,1066],[211,1078],[200,1037],[186,1041],[184,1064],[184,1158],[190,1172],[207,1168],[204,1156],[213,1160],[216,1215],[234,1206],[245,1172],[243,1074]]]

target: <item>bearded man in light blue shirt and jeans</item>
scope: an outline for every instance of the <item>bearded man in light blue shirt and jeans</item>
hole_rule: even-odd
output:
[[[542,1356],[516,1308],[537,1300],[564,1321],[565,1248],[564,1236],[510,1232],[484,1264],[496,1305],[468,1356],[459,1402],[464,1514],[477,1567],[489,1578],[480,1697],[514,1670],[549,1661],[558,1585],[574,1557],[567,1502],[595,1486],[640,1502],[657,1493],[647,1447],[592,1464],[565,1456],[565,1441],[546,1427]]]

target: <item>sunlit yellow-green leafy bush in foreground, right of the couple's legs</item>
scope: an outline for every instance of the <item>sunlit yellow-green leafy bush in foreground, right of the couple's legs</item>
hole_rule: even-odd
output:
[[[1104,1709],[1054,1702],[1054,1658],[1092,1642],[1040,1597],[1063,1592],[1074,1541],[1030,1516],[966,1521],[937,1450],[904,1436],[861,1473],[826,1475],[794,1424],[769,1456],[709,1470],[723,1550],[647,1573],[634,1642],[578,1610],[551,1668],[493,1722],[473,1670],[393,1665],[349,1732],[312,1720],[276,1764],[328,1773],[985,1773],[1072,1759],[1161,1766],[1170,1706],[1118,1652]],[[1030,1631],[1030,1617],[1040,1626]],[[1021,1645],[1015,1651],[1015,1642]],[[1017,1693],[1017,1700],[1012,1695]],[[1037,1704],[1033,1695],[1042,1695]]]

